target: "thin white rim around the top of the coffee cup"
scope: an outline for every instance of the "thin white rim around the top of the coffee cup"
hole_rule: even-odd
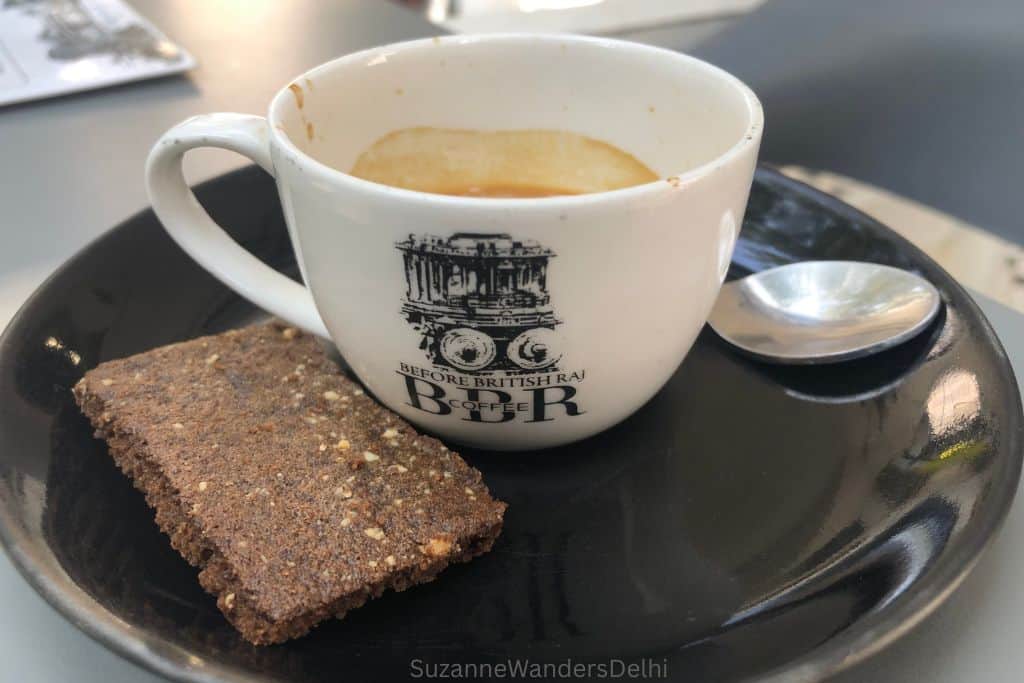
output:
[[[746,104],[749,124],[744,132],[739,136],[728,150],[702,164],[699,164],[687,171],[671,175],[650,182],[618,189],[610,189],[601,193],[591,193],[586,195],[558,195],[553,197],[527,197],[527,198],[490,198],[490,197],[459,197],[453,195],[438,195],[418,189],[407,189],[366,180],[354,175],[328,166],[310,155],[302,152],[292,141],[285,132],[281,124],[281,113],[289,99],[294,97],[292,87],[302,87],[306,79],[313,80],[317,76],[352,63],[362,63],[381,56],[383,53],[394,53],[399,50],[422,47],[427,44],[455,43],[459,45],[484,43],[484,42],[526,42],[536,44],[537,41],[549,43],[575,43],[598,45],[604,48],[617,50],[632,50],[634,52],[646,52],[647,54],[668,58],[686,63],[689,67],[696,67],[705,72],[713,74],[716,78],[722,79],[735,88],[742,96]],[[716,67],[703,59],[676,52],[662,47],[654,47],[643,43],[615,38],[604,38],[598,36],[580,36],[574,34],[559,33],[487,33],[487,34],[462,34],[453,36],[434,36],[430,38],[418,38],[415,40],[389,43],[377,47],[371,47],[357,52],[352,52],[340,57],[326,61],[319,66],[300,74],[291,79],[287,85],[283,86],[270,100],[267,112],[269,122],[270,137],[278,150],[283,152],[293,163],[302,165],[303,168],[316,176],[317,180],[331,184],[347,185],[353,190],[375,194],[380,198],[392,201],[404,201],[417,204],[429,204],[432,206],[463,207],[472,209],[516,209],[523,210],[536,207],[539,209],[559,209],[579,207],[604,202],[617,202],[626,200],[642,200],[644,198],[656,196],[668,190],[681,188],[687,184],[702,178],[719,168],[728,166],[737,157],[743,155],[752,146],[755,151],[761,143],[761,135],[764,130],[764,110],[761,101],[754,94],[751,88],[738,78]]]

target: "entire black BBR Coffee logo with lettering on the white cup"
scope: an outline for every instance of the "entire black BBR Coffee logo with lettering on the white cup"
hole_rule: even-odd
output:
[[[467,422],[551,422],[584,415],[583,369],[562,352],[548,294],[555,253],[508,234],[410,234],[401,314],[420,333],[425,367],[399,362],[408,404]]]

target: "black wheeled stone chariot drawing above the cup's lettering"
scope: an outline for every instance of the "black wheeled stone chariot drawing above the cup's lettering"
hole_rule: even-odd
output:
[[[548,261],[555,253],[508,234],[410,234],[401,313],[436,366],[472,375],[557,370],[561,358]]]

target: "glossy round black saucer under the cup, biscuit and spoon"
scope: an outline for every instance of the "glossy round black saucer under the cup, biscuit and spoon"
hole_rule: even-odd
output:
[[[199,196],[294,270],[262,171]],[[808,258],[912,269],[944,313],[907,344],[830,368],[761,365],[706,330],[618,427],[538,454],[467,454],[510,504],[489,555],[255,648],[69,392],[100,360],[258,315],[142,213],[66,264],[0,340],[0,535],[77,626],[179,680],[386,681],[437,663],[642,657],[670,680],[822,677],[900,635],[969,570],[1017,487],[1022,416],[998,340],[949,275],[841,202],[759,171],[734,270]]]

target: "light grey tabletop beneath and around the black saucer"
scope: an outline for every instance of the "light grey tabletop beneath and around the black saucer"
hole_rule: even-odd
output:
[[[133,0],[200,67],[171,78],[0,110],[0,326],[31,290],[89,240],[147,205],[141,168],[170,125],[204,112],[261,114],[278,86],[333,56],[430,35],[415,14],[380,0],[203,2]],[[802,160],[797,160],[802,161]],[[191,155],[201,180],[241,165],[226,153]],[[880,183],[880,184],[885,184]],[[1024,317],[982,307],[1024,371]],[[839,680],[1016,681],[1024,651],[1024,508],[964,586],[933,616]],[[0,681],[157,681],[79,633],[0,559]],[[45,643],[45,647],[41,644]]]

